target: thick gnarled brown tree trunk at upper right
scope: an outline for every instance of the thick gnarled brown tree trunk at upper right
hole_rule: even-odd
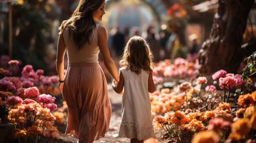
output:
[[[198,53],[198,76],[209,76],[220,69],[236,73],[244,57],[243,33],[254,0],[219,0],[218,3],[209,38]]]

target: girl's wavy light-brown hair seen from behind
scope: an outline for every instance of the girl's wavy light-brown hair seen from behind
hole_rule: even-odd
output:
[[[153,54],[147,42],[140,36],[131,37],[124,48],[124,54],[119,62],[119,66],[130,69],[137,74],[141,69],[153,72]]]

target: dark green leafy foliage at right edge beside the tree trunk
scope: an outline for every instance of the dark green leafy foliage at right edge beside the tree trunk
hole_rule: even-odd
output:
[[[256,52],[246,58],[247,65],[243,69],[243,80],[246,82],[247,78],[256,72]]]

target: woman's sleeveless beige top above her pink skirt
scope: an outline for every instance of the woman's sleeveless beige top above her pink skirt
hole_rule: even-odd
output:
[[[69,35],[67,29],[63,30],[63,38],[67,48],[67,57],[69,64],[79,63],[95,63],[98,62],[99,58],[99,46],[98,46],[98,30],[99,24],[92,30],[90,40],[92,43],[85,44],[83,48],[78,51],[76,44],[74,43],[73,37]]]

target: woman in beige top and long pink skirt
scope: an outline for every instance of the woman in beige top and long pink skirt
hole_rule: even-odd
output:
[[[66,135],[79,143],[92,143],[105,136],[111,117],[105,75],[99,66],[101,52],[104,65],[118,81],[117,68],[110,57],[106,29],[96,24],[105,14],[105,0],[80,0],[70,19],[62,22],[58,39],[56,68],[59,90],[68,106]],[[68,67],[64,76],[64,55]]]

